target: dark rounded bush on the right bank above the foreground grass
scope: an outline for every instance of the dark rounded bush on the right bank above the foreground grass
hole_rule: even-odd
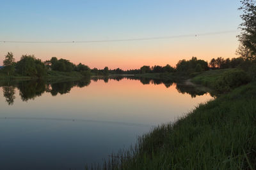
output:
[[[215,83],[215,89],[218,92],[228,92],[231,89],[244,85],[251,81],[250,76],[239,69],[226,71]]]

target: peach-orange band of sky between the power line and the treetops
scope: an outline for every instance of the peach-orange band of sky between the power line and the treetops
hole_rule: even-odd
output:
[[[0,63],[4,55],[13,52],[15,60],[21,55],[34,54],[36,58],[49,60],[57,57],[74,64],[85,64],[91,69],[140,69],[141,66],[175,66],[179,60],[197,57],[209,62],[212,58],[236,57],[236,34],[204,36],[201,38],[169,39],[162,41],[132,41],[121,43],[94,43],[74,45],[0,44]],[[1,65],[0,64],[0,65]]]

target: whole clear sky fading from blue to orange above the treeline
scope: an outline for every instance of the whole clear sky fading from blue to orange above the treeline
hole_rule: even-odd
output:
[[[0,66],[4,55],[63,58],[99,69],[165,66],[181,59],[237,57],[239,0],[0,0]],[[223,34],[205,34],[223,32]],[[229,32],[230,31],[230,32]],[[182,36],[182,35],[196,36]],[[159,36],[143,41],[76,43]],[[180,36],[180,37],[179,37]],[[3,43],[75,41],[75,43]]]

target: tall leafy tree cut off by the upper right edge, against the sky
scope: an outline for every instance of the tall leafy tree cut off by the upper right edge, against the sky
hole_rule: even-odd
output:
[[[244,55],[246,59],[256,59],[256,6],[255,1],[242,0],[242,6],[238,10],[243,11],[240,24],[241,34],[238,36],[241,46],[238,53]]]

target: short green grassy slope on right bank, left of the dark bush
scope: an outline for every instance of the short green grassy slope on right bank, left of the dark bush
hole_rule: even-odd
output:
[[[191,81],[196,84],[204,85],[205,87],[214,88],[216,80],[218,80],[225,71],[232,69],[218,69],[211,71],[204,71],[202,73],[196,74],[195,77],[191,78]]]

